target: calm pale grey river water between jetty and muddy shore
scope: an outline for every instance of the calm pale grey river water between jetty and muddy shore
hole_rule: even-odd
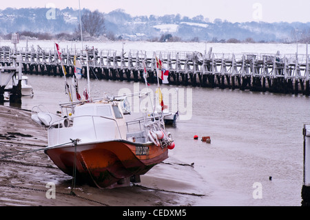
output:
[[[31,110],[42,104],[56,112],[59,101],[68,101],[63,77],[27,76],[34,97],[23,97],[21,108]],[[81,81],[80,86],[84,85]],[[92,88],[92,94],[118,94],[143,90],[145,84],[92,80]],[[168,97],[164,94],[169,109],[177,106],[180,110],[176,126],[167,127],[176,143],[169,156],[194,163],[195,172],[204,179],[205,186],[197,187],[205,188],[208,199],[198,198],[197,206],[300,206],[302,128],[310,123],[309,97],[190,86],[161,88],[170,92]],[[155,91],[156,85],[149,89]],[[132,99],[133,115],[137,114],[135,105]],[[198,140],[193,139],[195,134]],[[203,136],[209,136],[211,143],[200,141]]]

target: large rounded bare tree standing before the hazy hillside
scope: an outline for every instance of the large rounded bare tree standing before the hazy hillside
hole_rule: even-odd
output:
[[[105,18],[101,12],[87,10],[81,17],[82,30],[87,32],[91,37],[99,37],[105,32]]]

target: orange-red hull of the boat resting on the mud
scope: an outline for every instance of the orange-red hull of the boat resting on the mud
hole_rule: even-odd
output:
[[[124,140],[85,143],[45,150],[45,154],[65,174],[73,176],[76,150],[76,179],[107,188],[122,179],[145,174],[168,157],[167,148],[153,143]]]

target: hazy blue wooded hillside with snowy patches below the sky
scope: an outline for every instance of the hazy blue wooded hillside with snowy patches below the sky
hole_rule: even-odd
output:
[[[44,21],[47,10],[46,8],[0,10],[2,23],[0,38],[8,40],[13,32],[17,32],[20,39],[79,41],[82,29],[85,41],[310,43],[310,23],[230,23],[220,19],[210,22],[202,15],[192,19],[181,17],[180,14],[132,17],[123,10],[105,14],[98,10],[83,9],[80,24],[79,12],[72,8],[56,9],[55,19]],[[158,26],[177,26],[177,28],[172,31]]]

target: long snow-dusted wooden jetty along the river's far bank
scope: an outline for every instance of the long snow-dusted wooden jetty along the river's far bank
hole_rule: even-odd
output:
[[[307,47],[308,48],[308,47]],[[211,48],[210,48],[211,49]],[[57,52],[54,49],[17,50],[22,56],[23,72],[62,76]],[[169,84],[229,88],[309,96],[309,54],[205,54],[187,51],[146,52],[130,50],[90,50],[90,77],[120,81],[143,81],[143,61],[147,81],[156,83],[155,54],[169,70]],[[86,55],[80,50],[64,49],[63,65],[66,72],[74,74],[74,56],[86,72]],[[0,51],[1,66],[10,66],[12,51]]]

